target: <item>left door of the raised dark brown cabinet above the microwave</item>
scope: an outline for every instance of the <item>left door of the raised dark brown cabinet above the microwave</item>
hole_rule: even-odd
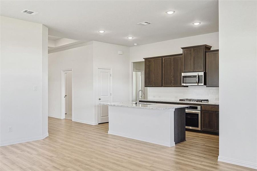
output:
[[[193,48],[183,49],[183,72],[193,71]]]

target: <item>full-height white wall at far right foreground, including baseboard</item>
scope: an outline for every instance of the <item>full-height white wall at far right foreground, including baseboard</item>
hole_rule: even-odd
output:
[[[255,169],[256,7],[256,1],[219,1],[218,160]]]

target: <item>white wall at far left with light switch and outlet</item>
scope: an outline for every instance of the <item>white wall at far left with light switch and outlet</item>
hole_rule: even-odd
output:
[[[48,136],[47,40],[42,24],[1,16],[1,146]]]

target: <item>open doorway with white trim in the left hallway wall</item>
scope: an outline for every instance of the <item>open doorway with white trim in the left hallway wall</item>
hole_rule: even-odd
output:
[[[73,119],[73,74],[72,69],[61,71],[61,119]]]

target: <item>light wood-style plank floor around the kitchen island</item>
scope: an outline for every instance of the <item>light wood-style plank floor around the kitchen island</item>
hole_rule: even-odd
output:
[[[175,147],[108,135],[108,123],[48,118],[49,137],[3,146],[0,170],[254,170],[218,162],[218,136],[187,132]]]

